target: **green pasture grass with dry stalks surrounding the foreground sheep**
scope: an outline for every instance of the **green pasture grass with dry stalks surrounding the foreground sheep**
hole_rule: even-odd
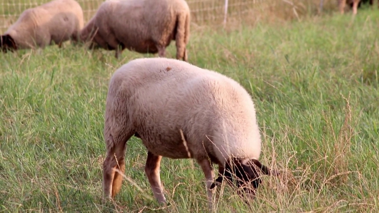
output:
[[[236,30],[191,29],[189,62],[239,81],[256,103],[264,177],[245,206],[229,186],[218,212],[377,212],[379,14],[360,10]],[[174,42],[167,57],[175,56]],[[108,80],[133,58],[66,44],[0,54],[0,210],[5,212],[204,212],[204,175],[163,158],[169,205],[155,202],[146,149],[128,141],[124,181],[102,199]],[[344,99],[346,98],[346,99]]]

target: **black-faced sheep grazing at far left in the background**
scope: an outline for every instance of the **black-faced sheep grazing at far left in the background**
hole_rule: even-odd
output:
[[[61,48],[64,41],[76,42],[84,26],[83,10],[75,0],[53,0],[26,9],[1,36],[3,52],[34,47],[44,48],[52,41]]]

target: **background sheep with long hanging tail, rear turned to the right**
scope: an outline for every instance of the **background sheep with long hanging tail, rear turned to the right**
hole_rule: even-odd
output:
[[[127,48],[138,53],[166,55],[171,40],[176,58],[188,61],[190,11],[185,0],[106,0],[81,30],[90,49],[115,50],[115,57]]]

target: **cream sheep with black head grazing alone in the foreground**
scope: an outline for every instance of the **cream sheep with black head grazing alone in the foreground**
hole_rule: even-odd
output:
[[[261,138],[247,91],[225,75],[176,59],[139,58],[114,72],[103,134],[103,196],[110,199],[121,188],[122,175],[115,169],[125,172],[126,143],[133,135],[147,148],[145,173],[159,203],[166,202],[160,180],[162,157],[197,161],[205,174],[209,208],[221,175],[233,181],[236,174],[240,180],[234,186],[254,198],[261,183],[258,172],[278,174],[258,160]],[[215,182],[213,163],[219,167]]]

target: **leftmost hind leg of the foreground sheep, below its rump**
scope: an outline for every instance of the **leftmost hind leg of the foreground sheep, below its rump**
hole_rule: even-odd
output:
[[[125,172],[126,142],[133,134],[127,135],[122,132],[117,136],[108,137],[106,141],[107,153],[103,162],[103,192],[107,197],[114,198],[121,189],[122,175]],[[116,172],[116,169],[119,171]]]

